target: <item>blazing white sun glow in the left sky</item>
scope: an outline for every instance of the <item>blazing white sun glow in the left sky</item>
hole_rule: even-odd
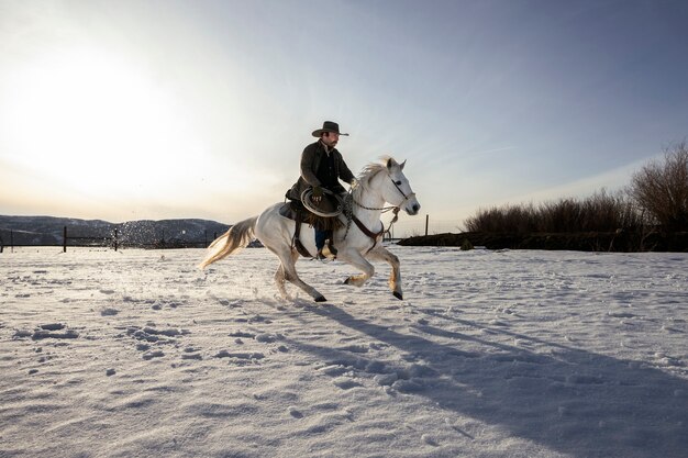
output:
[[[75,191],[165,192],[160,177],[187,175],[185,158],[202,155],[171,91],[102,49],[40,58],[11,87],[3,131],[12,160]]]

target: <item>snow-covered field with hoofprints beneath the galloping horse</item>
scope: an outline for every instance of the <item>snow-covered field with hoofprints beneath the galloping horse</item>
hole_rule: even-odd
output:
[[[0,457],[688,457],[688,254],[390,249],[5,249]]]

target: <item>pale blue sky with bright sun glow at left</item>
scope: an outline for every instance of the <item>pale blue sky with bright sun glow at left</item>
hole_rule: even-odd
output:
[[[325,120],[355,174],[407,160],[439,232],[614,191],[688,136],[686,23],[670,0],[0,0],[0,214],[232,224]]]

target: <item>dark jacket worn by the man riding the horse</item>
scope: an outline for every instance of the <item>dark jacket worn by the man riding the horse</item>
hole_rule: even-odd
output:
[[[308,145],[301,154],[301,176],[299,180],[293,183],[291,189],[287,191],[287,198],[292,200],[301,200],[301,193],[310,187],[321,186],[328,188],[333,192],[342,193],[346,192],[344,187],[339,182],[334,186],[324,186],[322,177],[318,176],[318,169],[323,160],[328,160],[328,153],[325,152],[325,145],[318,141]],[[334,164],[334,171],[339,179],[352,183],[355,179],[354,174],[348,169],[344,163],[342,154],[336,148],[330,149],[330,156]]]

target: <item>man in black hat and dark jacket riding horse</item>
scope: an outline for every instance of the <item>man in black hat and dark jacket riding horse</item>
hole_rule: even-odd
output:
[[[325,121],[322,129],[313,131],[312,135],[318,137],[318,142],[308,145],[301,154],[301,176],[298,181],[287,191],[287,198],[301,202],[304,191],[312,188],[312,201],[319,204],[328,190],[334,194],[346,193],[340,185],[340,179],[354,185],[356,178],[348,169],[342,154],[335,148],[341,135],[348,136],[340,132],[340,125],[332,121]],[[315,226],[315,247],[318,257],[336,255],[336,249],[332,246],[332,231],[323,231]],[[323,253],[323,247],[328,245],[330,253]]]

